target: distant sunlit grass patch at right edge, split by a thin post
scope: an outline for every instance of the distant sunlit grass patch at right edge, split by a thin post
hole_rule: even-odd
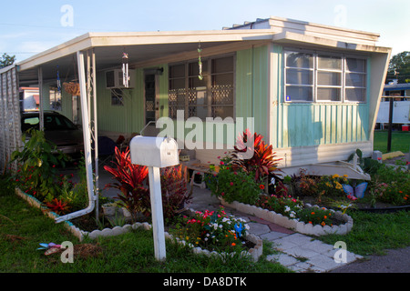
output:
[[[374,150],[387,153],[387,136],[386,130],[374,131]],[[410,132],[408,131],[393,131],[392,132],[392,148],[391,151],[400,151],[408,153],[410,148]]]

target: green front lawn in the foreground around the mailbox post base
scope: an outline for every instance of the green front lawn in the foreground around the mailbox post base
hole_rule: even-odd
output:
[[[74,256],[74,263],[62,263],[60,255],[44,255],[40,243],[97,246],[95,256]],[[0,181],[0,273],[288,273],[266,260],[271,252],[264,247],[258,262],[251,259],[193,254],[167,241],[167,259],[154,256],[152,231],[137,229],[120,236],[98,237],[79,242],[67,229],[25,201]]]

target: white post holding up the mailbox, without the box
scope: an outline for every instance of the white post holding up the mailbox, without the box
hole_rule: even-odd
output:
[[[164,216],[162,213],[162,195],[159,167],[149,166],[149,195],[151,199],[152,230],[154,233],[155,258],[166,258]]]

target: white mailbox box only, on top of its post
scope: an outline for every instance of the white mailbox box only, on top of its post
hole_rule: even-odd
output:
[[[168,137],[134,136],[129,152],[132,164],[159,168],[179,164],[178,144]]]

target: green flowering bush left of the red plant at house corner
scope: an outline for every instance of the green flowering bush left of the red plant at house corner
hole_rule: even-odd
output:
[[[210,171],[215,171],[215,166],[210,166]],[[212,195],[220,196],[228,203],[253,204],[264,188],[242,167],[232,165],[230,156],[220,158],[218,175],[207,175],[206,183]]]

